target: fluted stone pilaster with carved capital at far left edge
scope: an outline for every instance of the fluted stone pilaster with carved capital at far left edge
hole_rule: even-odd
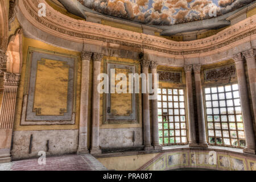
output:
[[[0,163],[11,161],[10,148],[19,80],[19,74],[5,73],[0,111]]]

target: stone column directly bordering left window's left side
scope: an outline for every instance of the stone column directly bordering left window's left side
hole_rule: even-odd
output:
[[[152,85],[155,85],[155,75],[157,74],[156,68],[158,65],[151,61],[151,73],[152,73]],[[162,150],[162,146],[159,144],[159,129],[158,129],[158,99],[151,101],[152,103],[152,144],[154,150]]]

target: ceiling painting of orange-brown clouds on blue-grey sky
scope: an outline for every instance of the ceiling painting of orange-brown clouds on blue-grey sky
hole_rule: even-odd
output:
[[[78,0],[98,13],[154,25],[172,25],[217,16],[254,0]],[[210,12],[210,13],[209,13]]]

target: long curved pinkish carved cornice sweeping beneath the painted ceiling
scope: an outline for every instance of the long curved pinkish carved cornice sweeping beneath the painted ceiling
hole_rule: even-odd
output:
[[[20,10],[25,18],[48,34],[74,42],[91,43],[93,40],[98,44],[102,42],[119,44],[170,55],[192,55],[215,51],[256,34],[256,15],[254,15],[209,38],[190,42],[175,42],[157,36],[72,19],[52,9],[47,3],[47,16],[39,17],[39,2],[46,3],[43,0],[19,1]]]

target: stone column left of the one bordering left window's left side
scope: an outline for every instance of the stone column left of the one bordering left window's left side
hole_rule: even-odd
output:
[[[150,61],[142,60],[142,73],[148,77],[148,68],[150,66]],[[146,89],[147,90],[147,89]],[[150,101],[149,101],[148,90],[146,93],[143,93],[142,102],[143,102],[143,143],[144,150],[154,150],[154,147],[151,146],[151,136],[150,136]]]

